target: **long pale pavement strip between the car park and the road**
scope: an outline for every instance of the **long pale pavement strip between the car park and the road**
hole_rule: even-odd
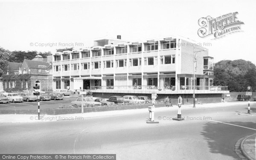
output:
[[[256,116],[256,113],[252,112],[250,115],[247,114],[247,103],[248,102],[225,102],[225,103],[207,103],[207,104],[197,104],[196,108],[193,108],[193,105],[182,105],[181,110],[189,110],[189,109],[207,109],[207,108],[220,108],[220,107],[228,107],[234,105],[242,105],[244,106],[243,112],[237,112],[239,115],[247,115],[247,116]],[[256,102],[250,102],[251,104],[256,104]],[[51,104],[49,104],[51,105]],[[37,109],[37,108],[36,108]],[[177,111],[178,106],[173,105],[173,107],[160,107],[157,108],[156,111]],[[62,114],[62,115],[40,115],[40,119],[38,120],[37,114],[0,114],[0,123],[22,123],[22,122],[52,122],[59,120],[79,120],[79,118],[92,118],[92,117],[101,117],[101,116],[115,116],[115,115],[131,115],[137,113],[145,113],[148,111],[148,108],[143,109],[133,109],[133,110],[119,110],[119,111],[104,111],[104,112],[90,112],[90,113],[76,113],[76,114]],[[79,117],[79,118],[78,118]]]

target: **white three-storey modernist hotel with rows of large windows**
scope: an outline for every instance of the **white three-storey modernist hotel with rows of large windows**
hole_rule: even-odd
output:
[[[131,42],[118,35],[97,39],[90,48],[52,56],[53,90],[192,94],[195,73],[195,93],[229,92],[227,87],[213,86],[214,63],[208,49],[188,38]]]

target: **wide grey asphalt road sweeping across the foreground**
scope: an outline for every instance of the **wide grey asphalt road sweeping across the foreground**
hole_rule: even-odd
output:
[[[159,124],[146,123],[147,109],[82,120],[3,123],[0,153],[105,153],[116,154],[118,160],[234,160],[239,159],[234,151],[237,140],[256,133],[256,116],[246,115],[246,111],[243,105],[191,108],[182,111],[184,121],[167,120],[177,116],[177,111],[156,111]],[[251,105],[251,112],[256,113],[256,104]]]

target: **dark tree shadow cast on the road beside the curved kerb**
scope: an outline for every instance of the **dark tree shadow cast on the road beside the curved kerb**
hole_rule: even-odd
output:
[[[256,128],[254,122],[226,122],[234,125],[240,125],[248,128]],[[227,125],[223,123],[208,122],[204,125],[201,135],[207,140],[210,152],[223,154],[233,159],[240,158],[235,153],[236,142],[247,135],[256,133],[256,131],[241,128],[238,126]]]

